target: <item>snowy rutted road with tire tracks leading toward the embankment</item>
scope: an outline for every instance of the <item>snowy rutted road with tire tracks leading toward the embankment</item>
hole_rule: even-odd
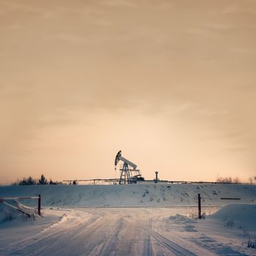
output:
[[[170,218],[177,211],[191,209],[72,208],[34,236],[5,244],[0,255],[249,255],[207,226],[200,232],[201,223]]]

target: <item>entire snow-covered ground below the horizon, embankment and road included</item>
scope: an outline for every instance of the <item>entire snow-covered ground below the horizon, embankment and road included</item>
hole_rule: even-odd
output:
[[[206,219],[193,218],[197,193]],[[256,255],[247,247],[256,236],[255,186],[0,187],[0,197],[37,194],[44,214],[35,220],[0,203],[0,255]]]

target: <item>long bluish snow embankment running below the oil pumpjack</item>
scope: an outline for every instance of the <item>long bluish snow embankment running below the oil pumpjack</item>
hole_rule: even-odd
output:
[[[42,195],[42,206],[203,206],[232,203],[221,197],[256,202],[256,186],[241,184],[41,185],[0,187],[0,197]],[[20,200],[36,206],[37,200]]]

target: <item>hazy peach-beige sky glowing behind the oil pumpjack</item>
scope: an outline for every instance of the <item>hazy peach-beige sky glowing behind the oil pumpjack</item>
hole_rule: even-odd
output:
[[[0,183],[256,175],[256,1],[0,1]]]

